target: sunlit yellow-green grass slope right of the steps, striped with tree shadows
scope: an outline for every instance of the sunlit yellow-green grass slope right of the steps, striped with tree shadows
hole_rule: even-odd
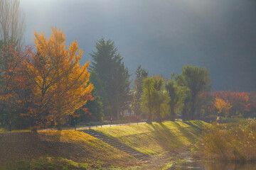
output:
[[[205,124],[201,120],[192,120],[93,129],[110,137],[116,137],[120,142],[144,154],[159,154],[193,144]]]

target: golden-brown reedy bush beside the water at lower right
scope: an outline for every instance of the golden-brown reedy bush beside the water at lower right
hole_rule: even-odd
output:
[[[205,157],[235,162],[256,161],[256,120],[206,125],[198,152]]]

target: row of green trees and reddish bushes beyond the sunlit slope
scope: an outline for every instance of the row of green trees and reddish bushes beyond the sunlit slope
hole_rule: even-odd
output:
[[[208,69],[186,65],[180,75],[171,79],[147,77],[139,66],[134,86],[133,108],[148,122],[156,120],[213,119],[217,116],[248,118],[256,116],[256,93],[210,92]],[[146,75],[146,76],[145,76]],[[177,117],[180,115],[181,117]]]

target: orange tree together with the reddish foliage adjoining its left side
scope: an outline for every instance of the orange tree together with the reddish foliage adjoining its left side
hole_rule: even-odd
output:
[[[82,50],[78,43],[72,42],[67,50],[65,35],[57,28],[52,29],[48,40],[35,31],[34,40],[36,52],[9,47],[1,53],[6,60],[1,74],[1,102],[16,96],[23,107],[21,115],[31,120],[33,130],[48,124],[61,129],[67,115],[93,99],[93,85],[88,83],[89,62],[80,66]]]

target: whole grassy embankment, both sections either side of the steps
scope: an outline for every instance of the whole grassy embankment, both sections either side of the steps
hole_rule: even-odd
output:
[[[160,154],[196,142],[202,121],[95,128],[144,154]],[[99,169],[134,166],[137,159],[95,137],[74,130],[0,133],[0,169]]]

